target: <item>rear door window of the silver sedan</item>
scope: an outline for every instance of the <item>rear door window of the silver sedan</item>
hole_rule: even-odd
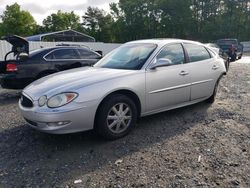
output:
[[[211,58],[207,49],[203,46],[197,44],[184,44],[184,47],[187,50],[189,60],[191,63]]]

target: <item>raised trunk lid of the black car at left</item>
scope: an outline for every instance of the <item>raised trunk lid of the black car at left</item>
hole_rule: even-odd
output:
[[[17,35],[12,35],[3,37],[2,39],[6,40],[12,45],[12,52],[14,52],[14,55],[20,53],[29,54],[29,42],[25,38]]]

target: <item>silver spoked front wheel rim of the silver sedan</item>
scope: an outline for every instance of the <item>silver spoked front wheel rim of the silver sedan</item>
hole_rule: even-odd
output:
[[[106,122],[108,129],[115,134],[127,130],[132,120],[132,110],[126,103],[115,104],[108,112]]]

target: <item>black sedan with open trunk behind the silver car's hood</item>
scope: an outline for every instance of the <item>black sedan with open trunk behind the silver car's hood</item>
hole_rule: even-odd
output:
[[[102,56],[82,46],[61,45],[29,52],[28,41],[19,37],[5,38],[12,44],[12,51],[0,62],[0,83],[6,89],[23,89],[44,76],[95,64]],[[14,59],[8,60],[13,53]]]

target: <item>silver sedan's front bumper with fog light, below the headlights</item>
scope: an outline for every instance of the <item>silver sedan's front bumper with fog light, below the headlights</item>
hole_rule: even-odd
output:
[[[70,104],[73,106],[73,104]],[[77,105],[75,109],[49,109],[34,106],[25,108],[19,101],[22,116],[29,126],[41,132],[51,134],[67,134],[91,130],[94,127],[97,102],[86,102]],[[81,107],[79,107],[81,106]]]

